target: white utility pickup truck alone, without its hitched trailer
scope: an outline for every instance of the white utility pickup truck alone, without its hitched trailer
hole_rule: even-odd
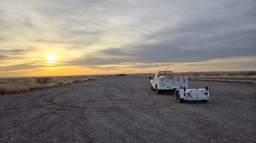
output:
[[[187,77],[174,76],[172,71],[158,71],[150,79],[150,89],[156,89],[157,94],[162,94],[164,90],[179,89],[179,87],[187,88]]]

